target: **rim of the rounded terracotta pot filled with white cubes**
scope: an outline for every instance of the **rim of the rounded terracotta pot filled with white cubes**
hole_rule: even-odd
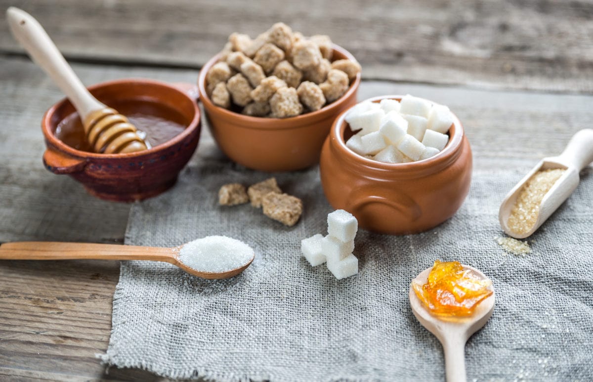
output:
[[[362,103],[365,101],[371,101],[371,102],[377,103],[384,99],[392,99],[392,100],[401,101],[402,97],[404,97],[404,96],[399,95],[399,94],[387,95],[387,96],[377,96],[377,97],[367,98],[366,100],[361,101],[359,103]],[[422,97],[417,97],[417,98],[422,98]],[[435,105],[441,105],[441,104],[438,104],[431,100],[428,100],[426,98],[422,98],[422,99],[429,101],[430,103],[435,104]],[[357,105],[359,103],[357,103]],[[444,149],[442,149],[440,152],[438,152],[438,154],[435,154],[430,158],[426,158],[426,159],[418,160],[418,161],[413,161],[413,162],[409,162],[409,163],[385,163],[385,162],[375,161],[375,160],[366,158],[362,155],[356,154],[356,152],[352,151],[349,147],[346,146],[346,142],[344,141],[344,138],[343,138],[343,133],[346,130],[346,125],[347,125],[347,122],[345,120],[346,113],[349,112],[349,110],[351,110],[355,106],[349,107],[348,109],[346,109],[342,113],[340,113],[339,116],[336,117],[336,120],[334,121],[333,126],[331,126],[330,134],[328,136],[328,139],[331,139],[332,141],[337,142],[337,147],[339,147],[342,154],[345,154],[346,158],[350,161],[353,161],[355,163],[364,164],[364,165],[366,165],[366,167],[375,168],[377,170],[388,170],[388,171],[397,170],[397,171],[407,173],[407,172],[415,172],[415,171],[419,171],[419,170],[425,170],[428,168],[432,168],[434,171],[438,171],[438,170],[441,170],[441,168],[446,167],[447,165],[451,164],[453,161],[455,161],[457,159],[457,157],[459,157],[459,155],[461,155],[460,147],[463,144],[463,141],[465,138],[465,132],[463,129],[463,125],[461,125],[461,121],[458,119],[458,117],[453,112],[451,112],[451,114],[453,116],[453,123],[452,123],[452,128],[449,129],[450,133],[452,130],[449,141],[447,142],[447,145],[445,146]]]

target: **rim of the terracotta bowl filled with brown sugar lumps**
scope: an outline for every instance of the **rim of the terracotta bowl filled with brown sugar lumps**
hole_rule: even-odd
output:
[[[348,52],[343,47],[340,47],[336,44],[331,44],[334,52],[339,52],[347,59],[356,61],[352,53]],[[336,113],[336,109],[344,103],[344,101],[352,96],[358,90],[358,87],[361,83],[361,73],[359,72],[356,75],[356,78],[350,84],[346,93],[342,94],[342,97],[338,98],[337,100],[333,101],[327,106],[322,107],[319,110],[311,113],[300,114],[295,117],[288,117],[288,118],[268,118],[268,117],[253,117],[247,116],[240,113],[232,112],[231,110],[224,109],[223,107],[216,106],[212,103],[212,100],[208,96],[206,92],[206,74],[208,73],[209,69],[218,62],[218,58],[220,57],[220,53],[213,56],[209,59],[208,62],[200,69],[200,75],[197,81],[197,85],[200,91],[200,101],[202,101],[204,108],[209,113],[216,113],[217,117],[222,117],[225,120],[234,120],[236,123],[237,120],[240,120],[242,123],[241,125],[244,128],[248,129],[257,129],[257,130],[277,130],[277,129],[290,129],[295,128],[298,126],[305,125],[307,123],[311,123],[316,120],[324,119],[331,114]]]

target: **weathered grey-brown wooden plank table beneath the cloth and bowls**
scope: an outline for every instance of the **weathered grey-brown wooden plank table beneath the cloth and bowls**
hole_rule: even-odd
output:
[[[0,0],[9,5],[38,18],[85,84],[195,82],[229,33],[254,36],[279,20],[329,34],[361,61],[362,97],[395,88],[450,104],[482,170],[495,156],[535,163],[593,122],[591,0]],[[0,20],[0,242],[121,244],[130,205],[94,199],[42,166],[40,119],[61,97]],[[205,132],[200,145],[211,139]],[[514,139],[525,147],[505,151]],[[1,262],[0,380],[160,380],[95,358],[118,275],[109,262]]]

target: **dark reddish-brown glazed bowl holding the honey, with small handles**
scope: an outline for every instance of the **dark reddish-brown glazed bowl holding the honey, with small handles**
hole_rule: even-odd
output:
[[[191,85],[190,85],[191,86]],[[87,191],[101,199],[132,202],[158,195],[177,180],[177,174],[192,157],[200,138],[200,110],[183,85],[151,79],[119,79],[102,82],[88,90],[109,105],[117,100],[154,101],[177,110],[189,122],[183,132],[164,144],[129,154],[95,154],[74,149],[54,135],[59,123],[74,113],[63,99],[43,116],[46,141],[45,167],[55,174],[69,174]]]

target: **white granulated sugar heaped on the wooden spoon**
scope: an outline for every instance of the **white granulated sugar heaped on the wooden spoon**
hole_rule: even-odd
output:
[[[254,257],[253,249],[227,236],[208,236],[181,247],[179,261],[199,272],[228,272],[246,265]]]

